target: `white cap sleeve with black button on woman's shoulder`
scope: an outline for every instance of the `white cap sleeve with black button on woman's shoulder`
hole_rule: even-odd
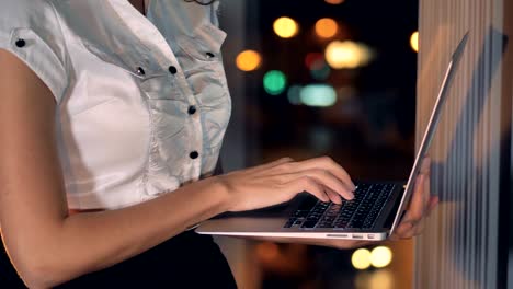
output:
[[[66,42],[52,0],[0,0],[0,49],[29,66],[57,102],[68,86]]]

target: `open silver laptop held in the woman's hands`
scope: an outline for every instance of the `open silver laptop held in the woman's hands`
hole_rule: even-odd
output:
[[[385,240],[396,229],[413,193],[414,180],[438,124],[448,86],[461,58],[468,33],[459,42],[445,72],[408,182],[356,183],[352,200],[322,203],[308,193],[253,211],[224,213],[201,223],[196,232],[214,235]]]

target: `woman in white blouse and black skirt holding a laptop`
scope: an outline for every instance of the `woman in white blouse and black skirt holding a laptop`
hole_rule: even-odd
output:
[[[0,0],[0,223],[26,286],[236,287],[189,228],[303,190],[353,197],[328,158],[212,176],[230,114],[217,5]],[[396,239],[436,203],[428,172]]]

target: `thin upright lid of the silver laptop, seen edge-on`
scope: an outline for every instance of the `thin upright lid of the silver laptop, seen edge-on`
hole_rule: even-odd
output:
[[[420,166],[422,163],[422,160],[425,157],[425,153],[428,152],[431,142],[434,137],[434,132],[436,130],[436,127],[440,123],[440,117],[442,114],[442,108],[445,104],[445,101],[447,99],[448,94],[448,88],[449,84],[454,78],[454,73],[456,71],[456,68],[459,63],[459,60],[461,59],[463,51],[465,49],[465,46],[468,41],[468,32],[465,34],[465,36],[461,38],[459,42],[458,46],[456,47],[456,50],[453,53],[451,62],[447,66],[447,70],[445,72],[444,81],[442,82],[442,86],[440,88],[438,96],[436,100],[436,103],[433,107],[433,111],[431,113],[430,122],[428,123],[428,127],[425,129],[424,136],[422,138],[422,142],[420,144],[419,151],[415,157],[415,161],[413,163],[413,167],[411,170],[410,176],[408,178],[407,187],[404,189],[404,194],[402,194],[401,203],[399,205],[399,208],[396,212],[396,218],[394,219],[394,224],[390,229],[390,234],[394,232],[396,227],[398,226],[400,218],[402,217],[402,212],[404,211],[406,205],[410,201],[411,194],[413,193],[414,189],[414,182],[417,178],[417,175],[419,174]]]

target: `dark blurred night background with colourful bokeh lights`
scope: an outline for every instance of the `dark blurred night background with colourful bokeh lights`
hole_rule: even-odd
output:
[[[353,180],[413,162],[417,1],[223,0],[225,171],[329,155]],[[240,288],[410,288],[411,241],[334,250],[220,238]]]

